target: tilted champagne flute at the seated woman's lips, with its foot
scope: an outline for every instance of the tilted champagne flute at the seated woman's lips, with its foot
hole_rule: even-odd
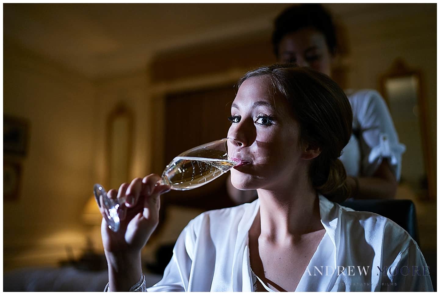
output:
[[[220,177],[232,167],[240,164],[240,146],[232,138],[223,138],[196,146],[175,157],[156,183],[168,185],[175,190],[195,189]],[[117,232],[120,228],[120,213],[126,197],[116,200],[107,197],[106,190],[100,184],[93,186],[96,202],[106,212],[108,227]]]

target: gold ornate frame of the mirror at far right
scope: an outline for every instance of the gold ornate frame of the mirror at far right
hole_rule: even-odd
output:
[[[422,157],[424,162],[424,169],[427,177],[428,192],[427,196],[429,199],[434,200],[436,198],[436,171],[435,163],[433,161],[433,153],[431,145],[429,143],[429,122],[428,122],[428,109],[426,106],[426,98],[423,91],[423,80],[422,74],[417,69],[409,68],[406,63],[401,58],[397,58],[390,67],[389,71],[380,77],[380,90],[383,95],[385,102],[389,108],[392,115],[392,106],[389,97],[389,91],[387,90],[387,83],[397,79],[411,78],[416,87],[412,89],[412,92],[417,96],[417,105],[414,106],[414,114],[418,117],[418,124],[420,127],[420,143],[422,146]],[[408,86],[408,84],[406,84]],[[393,116],[392,116],[393,117]],[[396,122],[395,122],[396,124]],[[397,128],[396,128],[397,129]],[[408,147],[407,147],[408,148]]]

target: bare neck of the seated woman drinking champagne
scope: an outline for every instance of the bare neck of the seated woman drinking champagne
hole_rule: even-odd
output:
[[[276,244],[295,243],[304,234],[323,229],[315,189],[307,182],[291,183],[296,184],[276,191],[258,189],[260,212],[253,223],[253,233],[260,239]]]

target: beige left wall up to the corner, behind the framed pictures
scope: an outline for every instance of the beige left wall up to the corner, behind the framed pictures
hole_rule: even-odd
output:
[[[94,89],[75,73],[4,42],[4,114],[29,120],[18,200],[4,201],[4,268],[54,263],[84,246],[91,195]]]

